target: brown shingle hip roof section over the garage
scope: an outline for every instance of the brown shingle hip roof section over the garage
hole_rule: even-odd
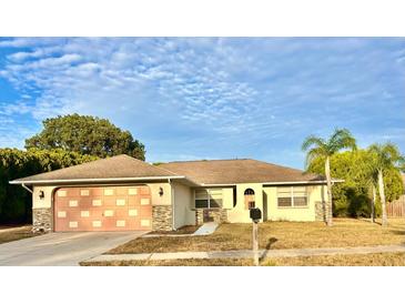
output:
[[[163,168],[151,165],[129,155],[118,155],[55,171],[18,179],[13,182],[70,181],[97,179],[141,179],[176,176]]]

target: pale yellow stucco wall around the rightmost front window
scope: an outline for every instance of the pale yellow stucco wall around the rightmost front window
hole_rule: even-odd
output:
[[[315,221],[315,202],[322,201],[322,185],[310,185],[308,205],[305,207],[279,207],[277,206],[277,188],[263,188],[264,203],[267,205],[269,221]]]

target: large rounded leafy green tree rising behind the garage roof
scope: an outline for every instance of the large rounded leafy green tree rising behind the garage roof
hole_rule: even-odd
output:
[[[107,119],[70,114],[45,119],[43,130],[26,140],[26,148],[62,149],[105,158],[128,154],[145,159],[144,145]]]

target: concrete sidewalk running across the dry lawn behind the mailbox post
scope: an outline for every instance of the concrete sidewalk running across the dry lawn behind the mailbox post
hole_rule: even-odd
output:
[[[260,256],[264,257],[295,257],[335,254],[368,254],[385,252],[405,252],[405,245],[363,246],[363,247],[326,247],[326,249],[297,249],[297,250],[261,250]],[[250,250],[213,251],[213,252],[171,252],[171,253],[140,253],[140,254],[103,254],[85,262],[110,262],[133,260],[181,260],[181,259],[251,259]]]

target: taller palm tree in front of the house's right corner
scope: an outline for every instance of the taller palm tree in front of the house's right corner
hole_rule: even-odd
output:
[[[331,156],[342,149],[356,149],[356,140],[347,129],[336,129],[327,140],[310,135],[302,144],[302,150],[307,151],[306,166],[316,158],[325,159],[325,175],[327,183],[327,211],[326,224],[332,226],[332,178],[331,178]]]

